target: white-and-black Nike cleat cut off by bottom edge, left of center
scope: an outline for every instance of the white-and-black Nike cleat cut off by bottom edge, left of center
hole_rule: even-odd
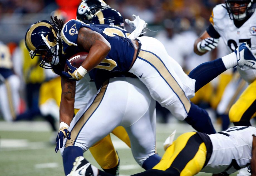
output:
[[[67,176],[93,176],[91,163],[84,157],[77,157],[73,165],[71,172]]]

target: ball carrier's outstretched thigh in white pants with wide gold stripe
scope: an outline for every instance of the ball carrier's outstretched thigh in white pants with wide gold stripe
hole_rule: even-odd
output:
[[[172,60],[158,40],[139,39],[142,40],[142,48],[130,72],[139,77],[161,106],[170,110],[179,120],[184,120],[191,104],[183,90],[183,82],[173,69]],[[153,42],[155,45],[152,45]]]

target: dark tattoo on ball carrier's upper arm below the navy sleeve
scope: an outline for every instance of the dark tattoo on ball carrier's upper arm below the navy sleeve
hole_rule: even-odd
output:
[[[91,30],[85,30],[81,28],[79,30],[77,44],[78,46],[82,46],[85,51],[89,52],[92,45],[95,43],[96,40],[101,40],[101,36],[99,33]]]

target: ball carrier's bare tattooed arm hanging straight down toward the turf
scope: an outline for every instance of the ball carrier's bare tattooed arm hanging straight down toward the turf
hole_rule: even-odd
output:
[[[60,122],[67,123],[73,119],[76,81],[61,77]]]

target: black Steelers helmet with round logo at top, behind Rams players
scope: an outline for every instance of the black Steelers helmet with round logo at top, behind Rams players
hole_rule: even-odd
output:
[[[101,10],[110,8],[103,0],[85,0],[77,8],[77,19],[90,23],[93,15]]]

